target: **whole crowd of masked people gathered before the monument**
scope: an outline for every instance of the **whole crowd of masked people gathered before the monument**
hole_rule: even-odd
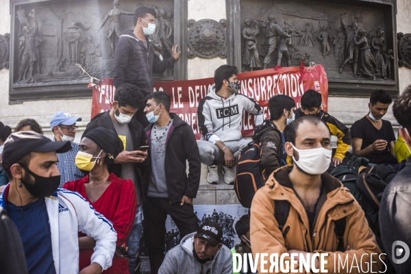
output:
[[[171,58],[153,61],[146,36],[155,17],[151,8],[138,8],[134,32],[119,38],[112,109],[91,119],[79,144],[73,141],[82,118],[67,112],[51,117],[52,140],[33,119],[22,120],[13,133],[0,123],[0,242],[6,247],[1,272],[138,273],[144,237],[151,273],[235,273],[236,253],[327,253],[329,273],[336,256],[348,265],[361,258],[362,268],[373,264],[384,272],[385,265],[386,273],[408,273],[411,260],[397,263],[402,259],[394,245],[411,245],[411,159],[397,160],[393,126],[382,119],[393,102],[390,94],[375,90],[368,114],[351,129],[321,110],[321,94],[314,90],[303,93],[299,109],[292,98],[275,95],[263,120],[260,105],[238,93],[236,67],[223,65],[199,103],[197,142],[190,125],[170,112],[169,94],[149,92],[153,71],[164,71],[179,57],[175,46]],[[148,67],[138,66],[139,58]],[[252,140],[241,135],[243,110],[255,116]],[[409,144],[411,86],[393,110]],[[331,136],[337,138],[335,150]],[[219,184],[219,173],[225,184],[234,184],[234,166],[252,141],[262,143],[266,179],[249,214],[234,223],[214,210],[200,220],[192,203],[201,164],[209,184]],[[372,225],[354,191],[329,174],[360,158],[369,164],[367,174],[379,166],[395,174],[379,195],[369,193],[379,207]],[[175,231],[167,232],[168,215]],[[240,244],[230,251],[234,234]],[[363,258],[382,250],[382,261]],[[320,263],[317,257],[316,268]]]

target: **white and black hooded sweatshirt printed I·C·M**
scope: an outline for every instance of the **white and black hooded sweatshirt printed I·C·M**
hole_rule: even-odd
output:
[[[215,84],[210,92],[201,99],[197,114],[199,129],[203,140],[215,143],[238,141],[241,136],[242,111],[256,116],[256,125],[262,124],[261,107],[252,98],[233,93],[227,98],[216,94]]]

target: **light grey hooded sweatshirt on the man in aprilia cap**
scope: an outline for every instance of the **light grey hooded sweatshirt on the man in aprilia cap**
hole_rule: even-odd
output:
[[[166,253],[158,274],[232,274],[232,253],[225,245],[214,254],[213,260],[204,264],[194,258],[192,255],[194,235],[195,232],[188,234],[182,238],[177,247]]]

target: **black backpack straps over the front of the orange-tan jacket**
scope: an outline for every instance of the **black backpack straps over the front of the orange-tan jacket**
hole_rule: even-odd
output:
[[[286,224],[286,221],[288,219],[288,213],[290,212],[290,202],[286,200],[275,200],[274,203],[275,203],[274,217],[275,217],[275,220],[277,220],[278,228],[282,232],[282,235],[285,239],[287,236],[288,230],[290,230],[289,226],[287,226],[284,229],[284,225]],[[345,247],[344,247],[343,237],[344,237],[345,225],[346,225],[345,218],[335,220],[334,225],[335,225],[334,232],[338,239],[337,251],[344,252]]]

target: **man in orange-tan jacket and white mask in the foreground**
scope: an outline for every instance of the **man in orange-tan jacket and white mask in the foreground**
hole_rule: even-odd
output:
[[[384,271],[384,257],[380,256],[381,250],[360,205],[347,188],[325,172],[332,157],[327,126],[319,119],[304,116],[287,125],[284,134],[288,141],[286,153],[295,165],[277,169],[253,198],[253,257],[256,259],[257,253],[268,253],[269,257],[276,253],[278,258],[282,253],[302,253],[311,259],[314,253],[327,253],[323,262],[327,273],[363,273],[371,264],[372,271]],[[290,204],[282,230],[275,219],[275,200]],[[334,232],[334,221],[339,219],[345,219],[340,245],[343,251],[337,251],[338,238]],[[294,268],[299,269],[299,257],[296,259]],[[286,260],[290,261],[290,257]],[[257,261],[260,271],[261,261]],[[317,257],[314,267],[319,269],[320,265]],[[269,270],[270,266],[268,260],[264,269]],[[312,270],[313,265],[310,267]]]

